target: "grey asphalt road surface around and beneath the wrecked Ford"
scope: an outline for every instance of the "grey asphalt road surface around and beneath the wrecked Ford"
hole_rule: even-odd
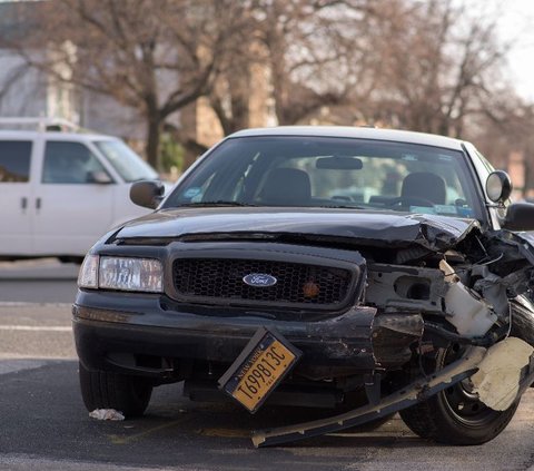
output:
[[[421,440],[395,416],[370,432],[346,431],[256,450],[251,430],[309,420],[312,412],[266,409],[251,416],[233,404],[190,402],[181,396],[180,384],[156,389],[141,419],[96,421],[78,390],[70,304],[13,301],[0,302],[2,471],[534,471],[534,390],[497,439],[469,448]]]

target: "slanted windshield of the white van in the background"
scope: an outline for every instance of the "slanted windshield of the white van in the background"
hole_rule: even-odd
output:
[[[96,140],[95,145],[125,181],[154,180],[158,174],[122,140]]]

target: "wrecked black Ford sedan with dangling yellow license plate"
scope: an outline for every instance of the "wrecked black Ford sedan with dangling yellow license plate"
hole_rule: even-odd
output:
[[[332,408],[257,447],[379,421],[479,444],[534,382],[534,205],[466,141],[373,128],[229,136],[87,255],[73,305],[89,411],[191,400]]]

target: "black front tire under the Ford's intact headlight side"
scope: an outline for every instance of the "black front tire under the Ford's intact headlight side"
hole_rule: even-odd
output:
[[[152,394],[149,380],[107,371],[89,371],[79,366],[80,390],[89,412],[95,409],[115,409],[126,418],[145,413]]]

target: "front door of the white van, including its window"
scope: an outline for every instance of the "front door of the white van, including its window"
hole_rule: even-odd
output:
[[[34,198],[36,254],[83,255],[111,225],[113,187],[83,143],[48,140]]]

